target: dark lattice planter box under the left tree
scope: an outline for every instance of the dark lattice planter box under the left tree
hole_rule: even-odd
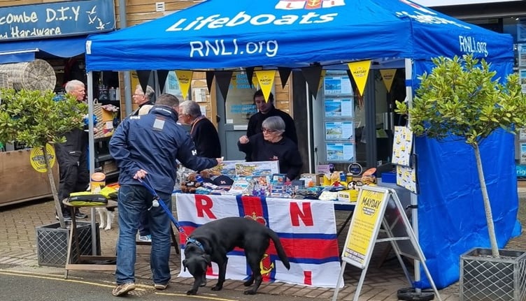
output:
[[[69,227],[71,221],[66,221],[66,228],[60,228],[60,223],[50,223],[36,227],[36,253],[38,255],[38,265],[49,267],[65,267],[68,254]],[[99,224],[95,227],[97,235],[97,254],[92,254],[92,225],[91,222],[77,221],[78,242],[80,254],[100,255],[101,238]],[[78,263],[76,258],[75,244],[71,249],[71,263]]]

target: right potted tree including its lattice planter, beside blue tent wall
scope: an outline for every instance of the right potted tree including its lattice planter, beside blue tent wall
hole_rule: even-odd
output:
[[[432,61],[435,67],[419,77],[411,107],[397,101],[396,111],[408,114],[415,135],[455,137],[474,151],[491,249],[461,256],[460,300],[523,300],[526,252],[498,248],[479,147],[497,129],[517,133],[526,126],[526,97],[516,74],[499,83],[490,65],[471,55]]]

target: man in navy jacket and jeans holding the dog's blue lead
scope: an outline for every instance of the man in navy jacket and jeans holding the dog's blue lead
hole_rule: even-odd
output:
[[[119,167],[120,184],[117,286],[113,289],[116,296],[135,289],[135,235],[141,212],[147,212],[152,235],[150,267],[154,286],[164,289],[171,279],[171,221],[162,207],[152,207],[153,196],[138,179],[151,184],[159,198],[171,208],[177,160],[193,170],[212,168],[222,162],[222,159],[196,156],[190,135],[177,124],[175,105],[178,105],[176,96],[162,94],[148,114],[125,119],[110,140],[111,156]]]

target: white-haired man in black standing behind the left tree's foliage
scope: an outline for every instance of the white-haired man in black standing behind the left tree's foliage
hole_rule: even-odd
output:
[[[66,83],[66,93],[84,101],[85,85],[80,80],[70,80]],[[69,198],[72,192],[85,191],[90,184],[90,171],[87,169],[87,132],[83,129],[72,129],[64,134],[66,142],[57,143],[57,161],[59,163],[59,200],[62,206],[62,216],[71,220],[69,210],[62,204],[62,200]],[[76,211],[75,216],[85,219],[86,214]],[[58,215],[56,216],[58,219]]]

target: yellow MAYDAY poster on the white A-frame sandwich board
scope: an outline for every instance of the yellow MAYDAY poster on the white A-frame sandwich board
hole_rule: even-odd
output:
[[[343,257],[363,267],[372,247],[383,218],[385,192],[367,190],[364,186],[357,200],[353,220],[349,226]]]

